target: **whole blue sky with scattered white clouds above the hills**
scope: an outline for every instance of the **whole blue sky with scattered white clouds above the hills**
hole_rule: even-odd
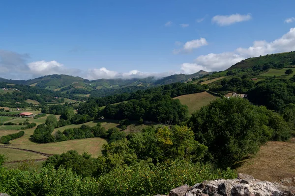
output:
[[[295,50],[294,7],[294,0],[1,0],[0,77],[224,70]]]

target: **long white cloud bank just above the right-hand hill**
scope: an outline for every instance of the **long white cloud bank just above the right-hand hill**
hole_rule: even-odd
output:
[[[282,37],[266,42],[254,41],[249,48],[237,48],[231,52],[222,52],[219,54],[210,53],[207,55],[198,56],[194,60],[196,69],[186,69],[185,73],[195,73],[196,71],[221,71],[249,57],[257,57],[271,53],[294,51],[295,50],[295,28],[291,28],[289,32]],[[181,70],[183,64],[181,65]]]

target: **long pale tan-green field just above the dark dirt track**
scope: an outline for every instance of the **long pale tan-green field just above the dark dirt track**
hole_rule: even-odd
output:
[[[102,138],[87,138],[82,140],[69,140],[57,143],[17,145],[10,147],[34,150],[37,152],[48,154],[61,154],[63,152],[67,152],[68,150],[77,150],[77,152],[80,154],[88,152],[93,157],[97,157],[101,155],[102,145],[106,143],[107,141]]]

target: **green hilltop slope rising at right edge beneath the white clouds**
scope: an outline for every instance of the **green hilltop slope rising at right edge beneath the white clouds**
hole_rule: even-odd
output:
[[[264,65],[277,66],[280,64],[283,64],[284,67],[295,65],[295,51],[267,54],[265,56],[248,58],[236,63],[226,71],[234,69],[252,69],[254,66],[263,67]]]

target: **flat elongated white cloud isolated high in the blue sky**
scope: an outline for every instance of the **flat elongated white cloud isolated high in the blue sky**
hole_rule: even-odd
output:
[[[249,21],[251,18],[252,17],[250,14],[217,15],[212,18],[212,22],[217,23],[220,26],[226,26],[226,25],[232,25],[234,23],[243,22],[243,21]]]

